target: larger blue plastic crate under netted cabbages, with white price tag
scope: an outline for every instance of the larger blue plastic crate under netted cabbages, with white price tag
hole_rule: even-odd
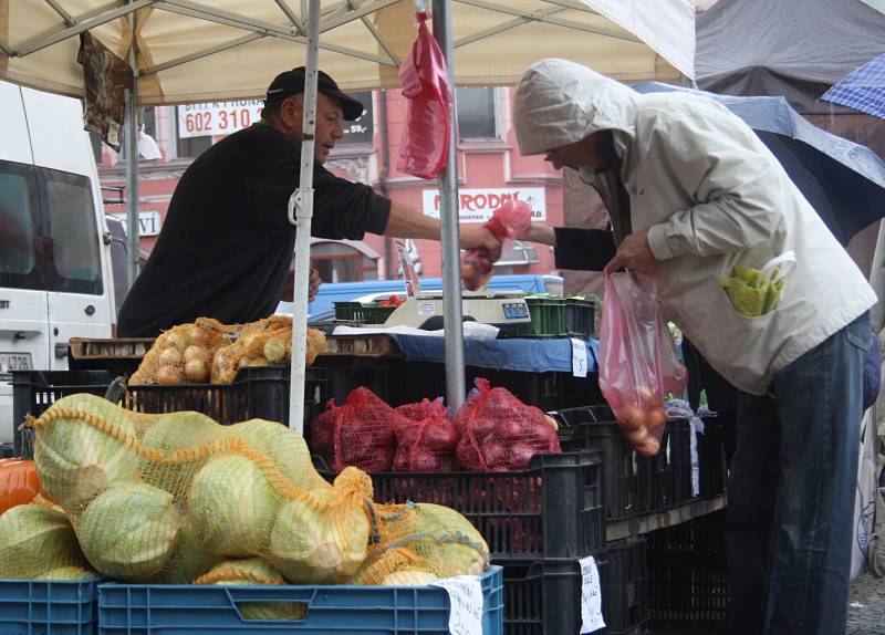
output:
[[[481,576],[482,633],[503,634],[503,575]],[[303,603],[303,620],[244,620],[243,603]],[[98,626],[103,635],[190,633],[429,635],[448,633],[449,597],[435,586],[192,586],[103,584]]]

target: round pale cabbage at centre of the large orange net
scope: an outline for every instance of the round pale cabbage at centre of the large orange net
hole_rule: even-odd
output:
[[[247,457],[218,455],[194,477],[187,513],[211,553],[246,556],[263,552],[280,495]]]

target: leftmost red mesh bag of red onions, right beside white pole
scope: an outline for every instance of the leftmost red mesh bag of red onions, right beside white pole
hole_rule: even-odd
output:
[[[396,452],[394,427],[406,423],[404,417],[362,386],[340,407],[330,399],[327,408],[311,423],[311,449],[330,469],[340,472],[354,466],[367,472],[389,471]]]

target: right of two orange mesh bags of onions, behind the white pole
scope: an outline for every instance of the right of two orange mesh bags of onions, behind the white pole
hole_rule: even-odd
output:
[[[322,331],[308,329],[305,362],[310,366],[325,350]],[[271,315],[267,320],[244,324],[237,341],[219,348],[212,358],[214,384],[230,384],[244,366],[287,365],[292,358],[292,319]]]

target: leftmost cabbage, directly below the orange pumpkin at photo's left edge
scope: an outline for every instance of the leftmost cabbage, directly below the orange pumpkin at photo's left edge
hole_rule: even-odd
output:
[[[31,580],[59,568],[86,565],[63,512],[19,504],[0,516],[0,577]]]

